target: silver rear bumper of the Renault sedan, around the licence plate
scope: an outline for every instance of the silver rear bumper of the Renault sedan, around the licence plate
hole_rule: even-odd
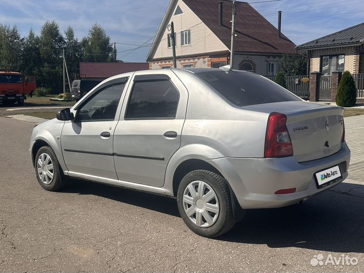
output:
[[[244,209],[275,208],[296,204],[341,183],[348,175],[350,150],[343,143],[339,152],[317,160],[298,163],[293,156],[283,158],[218,158],[208,160],[229,181]],[[314,173],[340,166],[342,179],[318,189]],[[296,188],[292,194],[275,194]]]

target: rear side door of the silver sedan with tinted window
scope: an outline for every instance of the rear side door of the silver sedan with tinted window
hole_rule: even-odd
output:
[[[153,73],[153,74],[151,74]],[[118,179],[162,187],[178,150],[188,93],[171,70],[135,72],[114,133]]]

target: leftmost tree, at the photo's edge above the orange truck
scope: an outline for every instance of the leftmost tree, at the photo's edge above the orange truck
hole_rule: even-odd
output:
[[[22,47],[18,28],[0,24],[0,69],[20,71]]]

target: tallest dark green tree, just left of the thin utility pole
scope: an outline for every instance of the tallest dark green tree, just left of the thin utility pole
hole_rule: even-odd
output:
[[[59,93],[63,89],[62,82],[62,50],[64,38],[55,21],[47,21],[40,30],[39,52],[42,61],[39,85],[51,89],[51,93]]]

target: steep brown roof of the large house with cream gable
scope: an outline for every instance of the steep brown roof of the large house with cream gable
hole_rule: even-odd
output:
[[[223,25],[219,25],[219,0],[181,0],[201,21],[230,49],[232,4],[223,2]],[[178,0],[171,0],[158,29],[147,60],[152,59],[163,31]],[[277,15],[278,16],[278,15]],[[294,53],[295,44],[270,24],[248,3],[239,2],[236,7],[235,51],[243,53],[283,54]]]

